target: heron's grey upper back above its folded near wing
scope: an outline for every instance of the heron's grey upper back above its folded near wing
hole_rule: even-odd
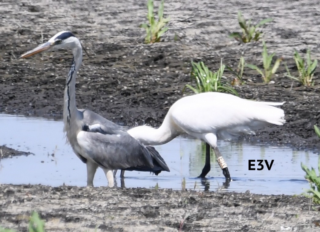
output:
[[[81,114],[80,118],[82,118],[84,125],[90,126],[100,124],[105,128],[105,131],[107,131],[109,134],[116,134],[121,131],[124,131],[124,129],[116,123],[108,119],[105,119],[104,117],[95,112],[86,109],[81,109],[79,110],[79,113]]]

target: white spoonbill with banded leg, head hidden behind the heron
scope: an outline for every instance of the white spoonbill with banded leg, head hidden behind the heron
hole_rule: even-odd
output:
[[[200,93],[176,101],[159,128],[138,126],[128,130],[128,133],[148,145],[168,143],[180,134],[201,139],[206,142],[206,156],[204,168],[198,177],[204,178],[211,169],[212,147],[229,182],[231,177],[228,166],[218,150],[217,140],[235,139],[240,134],[255,134],[254,130],[270,124],[283,125],[284,111],[275,107],[283,104],[284,102],[252,101],[219,92]],[[121,171],[121,176],[123,175],[124,170]]]

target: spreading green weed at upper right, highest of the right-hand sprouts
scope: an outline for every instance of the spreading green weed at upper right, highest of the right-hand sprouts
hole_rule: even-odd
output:
[[[251,19],[246,21],[244,17],[242,16],[241,11],[238,12],[238,23],[240,25],[240,28],[242,30],[242,33],[240,32],[233,32],[229,35],[230,38],[234,38],[237,41],[242,41],[243,43],[249,43],[250,41],[259,41],[260,35],[262,34],[262,31],[257,31],[257,28],[262,26],[263,24],[266,24],[268,22],[271,22],[272,18],[267,18],[261,20],[257,25],[253,26],[251,25]]]

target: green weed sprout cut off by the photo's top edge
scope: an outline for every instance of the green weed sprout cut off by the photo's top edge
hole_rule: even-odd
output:
[[[161,35],[169,29],[164,26],[169,22],[170,16],[168,18],[163,18],[164,0],[162,0],[159,5],[158,21],[155,20],[155,16],[153,14],[153,0],[148,0],[147,7],[149,25],[147,23],[143,23],[140,27],[146,29],[147,32],[145,43],[156,43],[160,41]]]

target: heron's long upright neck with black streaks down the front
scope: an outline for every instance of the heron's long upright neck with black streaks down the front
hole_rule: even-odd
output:
[[[81,125],[77,125],[78,110],[76,108],[76,73],[78,72],[82,63],[82,49],[81,44],[76,44],[73,48],[73,59],[68,77],[66,80],[66,87],[64,90],[64,107],[63,107],[63,122],[64,131],[67,132],[67,138],[70,142],[71,138],[76,138],[77,130]]]

